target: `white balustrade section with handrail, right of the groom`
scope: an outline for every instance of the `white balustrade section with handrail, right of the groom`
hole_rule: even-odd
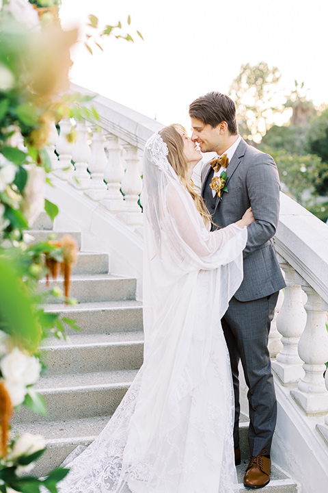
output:
[[[327,225],[282,194],[275,247],[286,288],[269,338],[272,367],[305,416],[320,418],[328,445],[327,242]]]

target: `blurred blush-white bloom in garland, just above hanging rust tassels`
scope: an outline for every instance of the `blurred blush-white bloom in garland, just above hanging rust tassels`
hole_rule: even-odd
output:
[[[27,184],[24,188],[23,214],[29,223],[33,225],[40,212],[44,210],[44,194],[46,191],[46,175],[40,166],[26,166],[28,172]]]

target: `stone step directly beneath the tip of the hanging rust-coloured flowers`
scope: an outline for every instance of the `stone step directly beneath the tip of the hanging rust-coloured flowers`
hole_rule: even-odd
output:
[[[79,305],[46,305],[46,312],[73,318],[85,333],[142,331],[142,304],[135,300],[79,303]],[[76,333],[66,326],[66,333]]]

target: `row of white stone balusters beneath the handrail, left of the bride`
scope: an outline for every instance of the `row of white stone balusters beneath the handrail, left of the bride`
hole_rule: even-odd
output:
[[[142,168],[138,147],[85,121],[77,122],[77,140],[70,144],[66,135],[71,125],[68,119],[59,122],[55,146],[59,160],[54,167],[55,175],[83,190],[88,197],[117,214],[126,225],[139,225]]]

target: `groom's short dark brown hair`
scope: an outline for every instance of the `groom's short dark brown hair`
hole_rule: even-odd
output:
[[[213,128],[226,121],[230,134],[238,134],[236,105],[229,96],[221,92],[208,92],[205,96],[195,99],[189,106],[189,116]]]

